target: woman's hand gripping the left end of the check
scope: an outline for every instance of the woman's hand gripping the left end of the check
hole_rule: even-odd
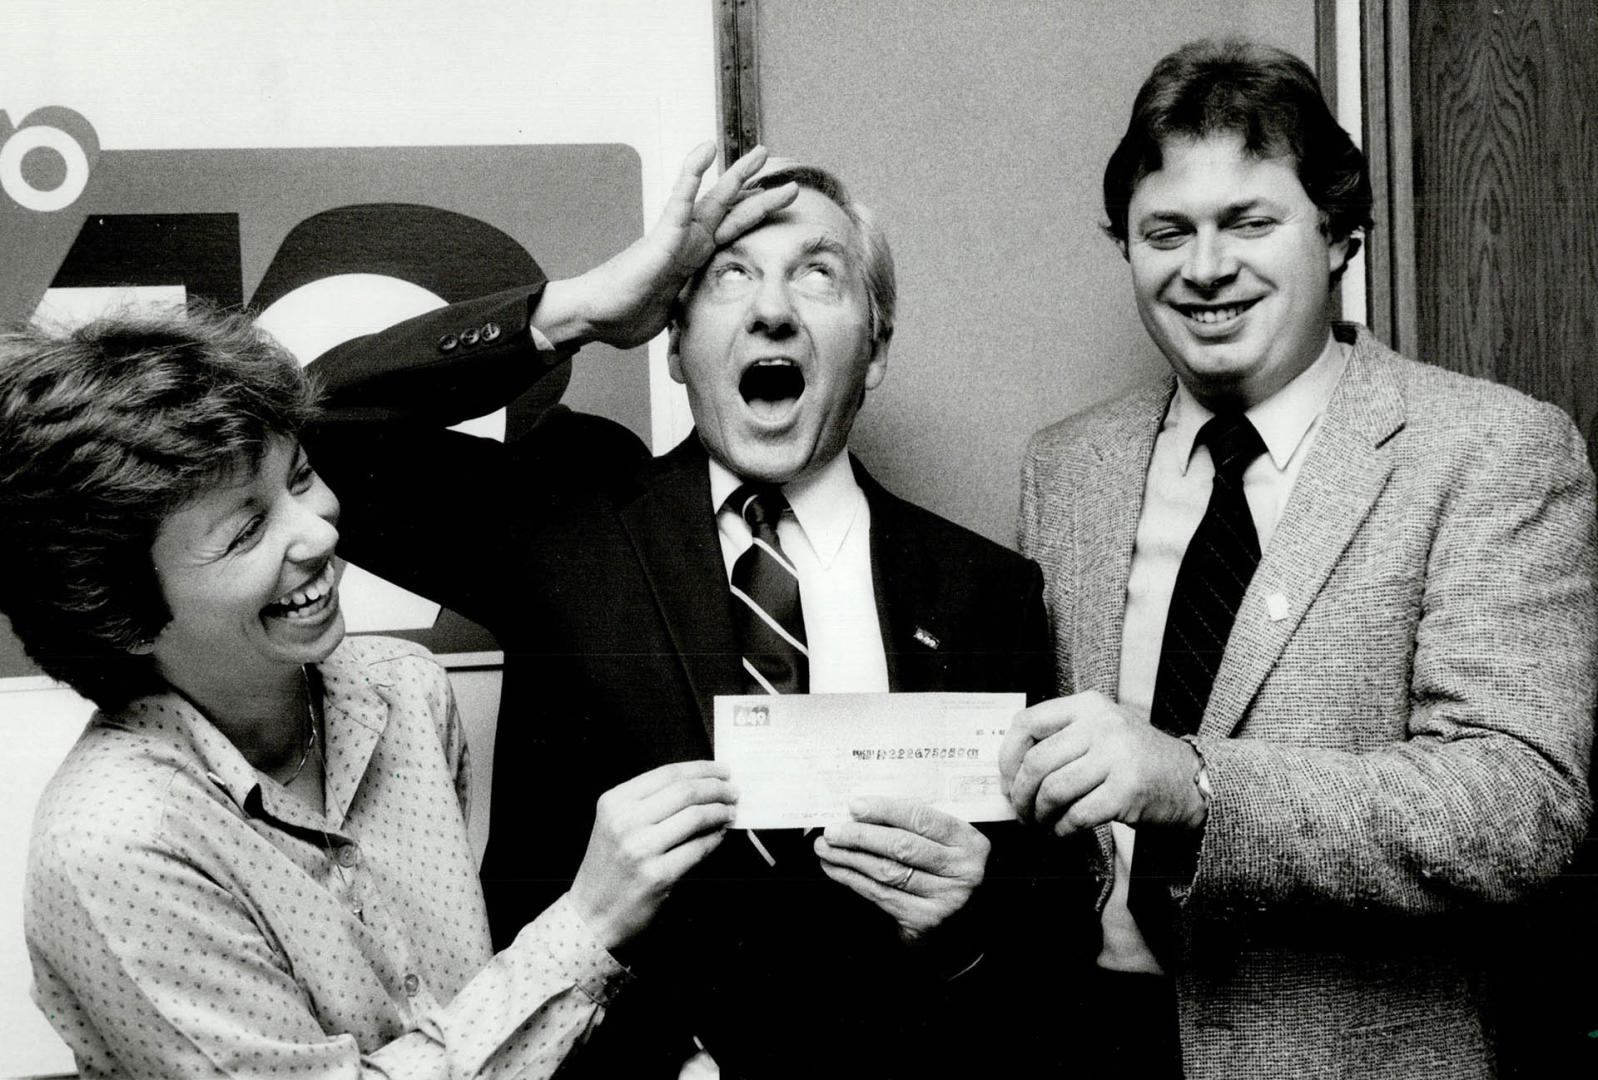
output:
[[[710,760],[650,768],[599,796],[572,904],[606,949],[638,935],[671,887],[721,844],[737,792]]]

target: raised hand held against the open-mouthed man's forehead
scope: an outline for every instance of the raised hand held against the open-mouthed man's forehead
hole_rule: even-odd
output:
[[[682,161],[655,227],[588,273],[545,286],[532,324],[553,343],[567,347],[598,340],[630,348],[663,331],[673,300],[711,254],[799,193],[796,184],[746,187],[765,163],[765,147],[754,147],[697,195],[714,160],[714,142],[695,147]]]

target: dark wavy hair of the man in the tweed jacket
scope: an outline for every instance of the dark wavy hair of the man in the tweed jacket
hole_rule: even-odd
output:
[[[1168,139],[1238,134],[1245,152],[1288,158],[1322,214],[1330,240],[1371,225],[1371,177],[1365,155],[1322,97],[1314,72],[1291,53],[1240,38],[1191,42],[1159,64],[1138,91],[1131,123],[1104,166],[1104,214],[1127,249],[1127,208],[1149,173],[1160,169]]]

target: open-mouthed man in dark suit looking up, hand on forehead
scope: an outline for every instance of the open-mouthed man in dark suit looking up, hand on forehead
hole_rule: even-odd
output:
[[[882,228],[829,173],[749,161],[722,182],[769,212],[714,244],[684,219],[588,275],[316,364],[332,420],[308,444],[345,506],[342,551],[505,650],[483,868],[497,939],[562,891],[601,791],[711,756],[716,695],[1050,685],[1037,567],[847,452],[893,336]],[[564,409],[508,446],[444,430],[586,340],[641,343],[668,323],[695,430],[660,459]],[[430,363],[406,363],[419,350]],[[1069,907],[1059,876],[1026,882],[1024,831],[896,800],[853,813],[722,844],[630,946],[631,1000],[570,1074],[976,1075],[1067,1058],[1042,1035],[1051,999],[1013,994],[1018,927],[1069,939],[1042,914]]]

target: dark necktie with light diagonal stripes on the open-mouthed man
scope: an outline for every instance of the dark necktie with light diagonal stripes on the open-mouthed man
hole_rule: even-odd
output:
[[[789,511],[781,490],[745,484],[725,506],[743,518],[754,542],[732,564],[733,628],[743,652],[746,693],[804,693],[810,689],[810,650],[799,607],[799,574],[777,538]]]

